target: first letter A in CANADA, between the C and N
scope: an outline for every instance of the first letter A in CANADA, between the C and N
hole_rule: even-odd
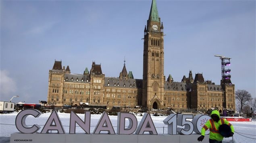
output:
[[[52,123],[54,123],[55,125],[53,125]],[[65,133],[60,118],[58,117],[58,113],[55,110],[52,111],[52,114],[48,118],[41,133],[48,133],[49,130],[55,130],[58,131],[58,133]]]

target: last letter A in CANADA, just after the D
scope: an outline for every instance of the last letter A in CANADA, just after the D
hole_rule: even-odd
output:
[[[135,134],[143,135],[145,131],[148,131],[150,135],[157,135],[155,125],[148,113],[143,115]]]

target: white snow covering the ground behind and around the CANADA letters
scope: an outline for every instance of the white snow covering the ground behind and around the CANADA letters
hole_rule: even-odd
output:
[[[15,126],[15,118],[18,113],[10,113],[10,114],[0,114],[0,143],[9,142],[10,134],[19,132]],[[70,114],[67,113],[58,113],[60,117],[60,121],[64,126],[65,132],[69,132],[69,118]],[[84,114],[77,114],[82,120],[84,119]],[[44,113],[38,118],[34,118],[33,116],[27,117],[26,124],[40,125],[40,130],[42,130],[43,125],[46,123],[50,113]],[[101,115],[91,115],[91,129],[90,132],[94,131],[95,126],[98,123]],[[115,132],[117,132],[117,116],[109,116],[110,121],[114,127]],[[167,116],[151,116],[153,123],[157,129],[158,134],[167,134],[167,125],[164,125],[163,120]],[[31,119],[31,120],[29,120]],[[137,116],[138,124],[141,121],[142,116]],[[235,134],[232,137],[224,138],[223,143],[256,143],[256,121],[252,122],[230,122],[235,128]],[[76,133],[84,133],[84,131],[77,127]],[[199,137],[200,135],[198,135]],[[196,143],[198,141],[191,141]],[[199,143],[199,142],[198,142]]]

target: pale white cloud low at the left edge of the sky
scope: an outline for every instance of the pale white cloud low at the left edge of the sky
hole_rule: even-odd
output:
[[[0,70],[0,94],[2,99],[8,99],[17,92],[16,81],[12,79],[7,70]]]

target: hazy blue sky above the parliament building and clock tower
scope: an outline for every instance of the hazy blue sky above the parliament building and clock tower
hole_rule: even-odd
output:
[[[164,25],[164,75],[180,82],[192,70],[220,84],[221,60],[231,81],[256,97],[255,0],[157,0]],[[106,77],[142,79],[143,36],[151,0],[0,1],[0,100],[47,100],[54,60],[83,73],[92,61]]]

